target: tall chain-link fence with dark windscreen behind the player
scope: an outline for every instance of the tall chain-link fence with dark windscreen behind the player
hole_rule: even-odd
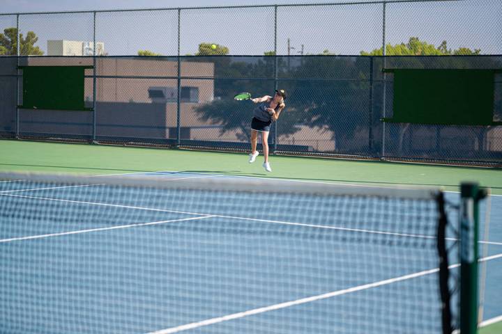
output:
[[[502,54],[501,14],[498,0],[446,0],[0,15],[0,132],[248,150],[254,105],[233,95],[284,88],[269,138],[277,153],[500,164],[501,127],[380,119],[393,113],[384,67],[502,68],[502,56],[484,55]],[[22,65],[93,66],[93,111],[18,109]],[[494,81],[500,121],[501,74]]]

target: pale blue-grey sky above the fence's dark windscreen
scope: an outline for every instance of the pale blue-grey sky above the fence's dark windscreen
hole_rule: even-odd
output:
[[[260,6],[286,3],[337,3],[350,0],[0,0],[0,13],[70,10]],[[370,0],[358,0],[367,2]],[[149,49],[175,56],[177,10],[97,13],[96,40],[109,55],[137,54]],[[418,37],[436,46],[481,49],[502,54],[502,0],[465,0],[386,5],[386,42],[397,44]],[[15,15],[0,15],[0,30],[15,26]],[[277,10],[277,54],[360,54],[381,47],[383,5],[280,7]],[[229,47],[230,54],[264,54],[274,49],[273,8],[182,10],[180,54],[195,54],[199,43]],[[21,15],[20,30],[35,31],[38,46],[47,40],[93,40],[92,13]],[[289,48],[288,48],[289,40]]]

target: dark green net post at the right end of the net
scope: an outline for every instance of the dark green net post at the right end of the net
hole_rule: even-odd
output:
[[[473,182],[460,185],[460,332],[478,332],[478,225],[479,200],[485,191]]]

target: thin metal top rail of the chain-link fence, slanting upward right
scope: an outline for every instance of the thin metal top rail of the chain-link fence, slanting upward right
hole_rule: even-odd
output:
[[[40,14],[82,14],[82,13],[113,13],[113,12],[141,12],[155,10],[200,10],[200,9],[231,9],[231,8],[275,8],[275,7],[312,7],[312,6],[347,6],[347,5],[370,5],[383,3],[426,3],[426,2],[461,2],[467,0],[380,0],[380,1],[344,1],[326,3],[282,3],[271,5],[241,5],[241,6],[203,6],[203,7],[166,7],[166,8],[130,8],[130,9],[105,9],[105,10],[66,10],[48,12],[25,12],[25,13],[0,13],[6,15],[40,15]]]

